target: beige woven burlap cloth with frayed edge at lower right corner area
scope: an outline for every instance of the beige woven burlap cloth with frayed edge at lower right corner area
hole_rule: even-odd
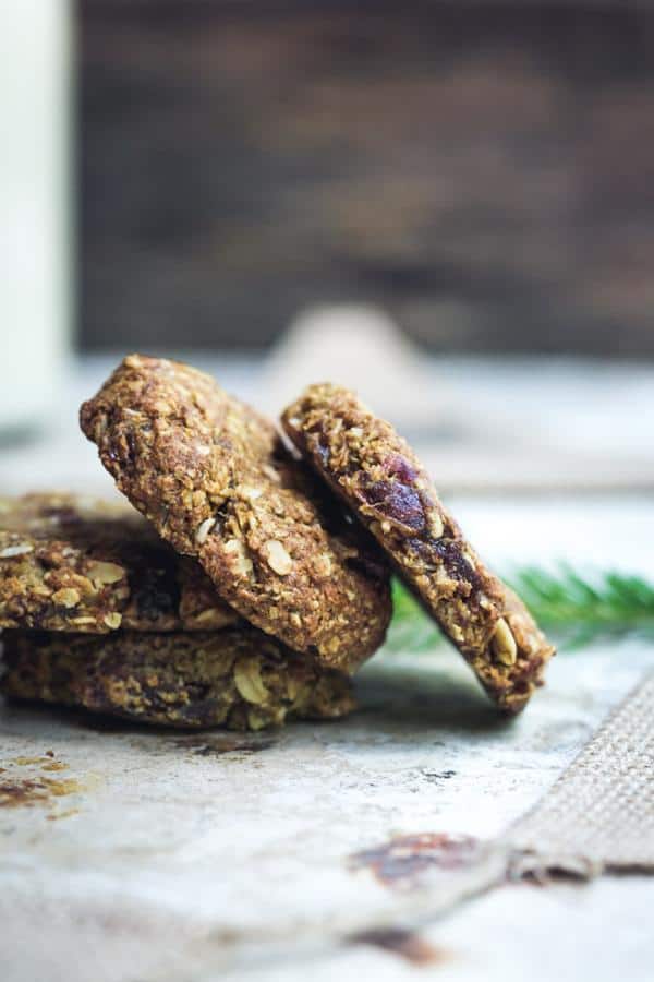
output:
[[[654,872],[654,674],[509,830],[516,874]]]

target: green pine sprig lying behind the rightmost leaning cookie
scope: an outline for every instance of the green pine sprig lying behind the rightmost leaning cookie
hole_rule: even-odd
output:
[[[654,640],[654,584],[641,576],[604,572],[583,576],[569,565],[556,572],[526,566],[508,577],[538,624],[567,648],[601,638],[637,636]],[[425,651],[443,635],[420,603],[393,583],[391,650]]]

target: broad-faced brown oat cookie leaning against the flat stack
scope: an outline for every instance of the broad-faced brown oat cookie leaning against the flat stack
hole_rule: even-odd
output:
[[[325,511],[274,426],[208,375],[133,355],[80,418],[132,504],[257,627],[348,671],[382,644],[376,544]]]

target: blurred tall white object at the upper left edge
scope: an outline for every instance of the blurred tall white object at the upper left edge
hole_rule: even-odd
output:
[[[70,346],[68,0],[0,0],[0,434],[44,422]]]

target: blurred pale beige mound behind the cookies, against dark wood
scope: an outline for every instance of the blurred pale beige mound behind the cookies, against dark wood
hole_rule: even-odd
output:
[[[447,393],[425,362],[426,356],[378,308],[314,307],[272,349],[258,400],[277,416],[312,382],[335,382],[353,388],[400,429],[440,429],[450,417]]]

